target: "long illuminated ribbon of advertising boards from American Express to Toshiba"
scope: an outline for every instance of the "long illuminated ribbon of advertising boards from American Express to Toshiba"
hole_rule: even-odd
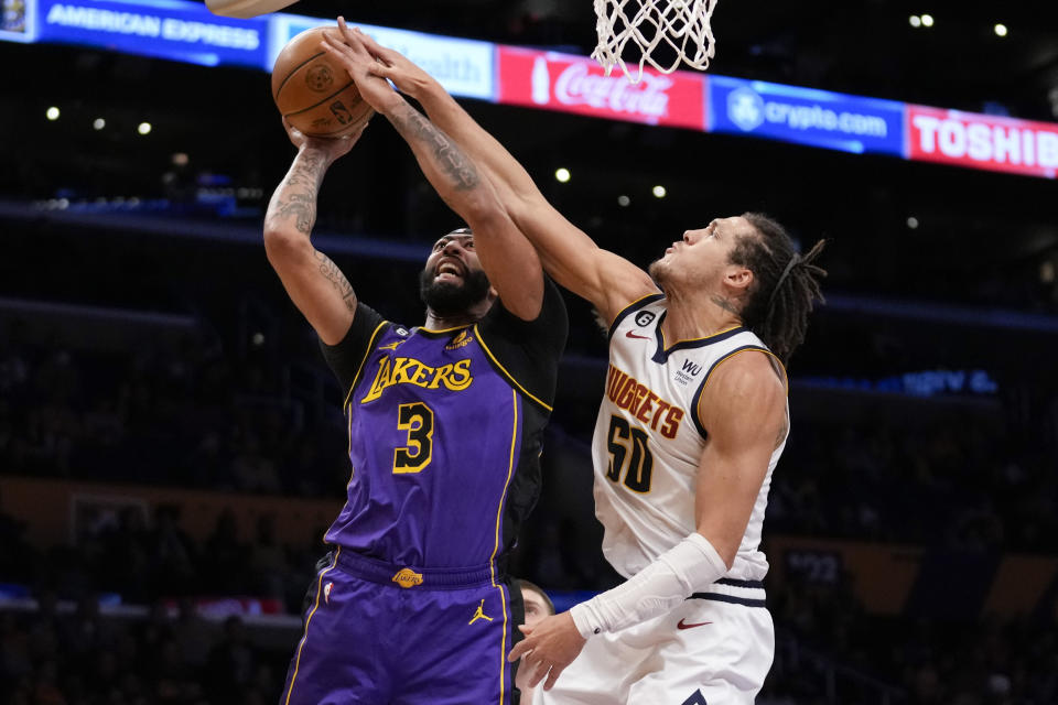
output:
[[[205,3],[188,0],[0,0],[0,42],[80,44],[205,66],[237,65],[264,72],[271,70],[276,55],[295,34],[334,22],[279,12],[237,20],[215,15]],[[715,74],[703,77],[690,72],[663,77],[646,89],[644,85],[628,87],[609,77],[596,77],[586,61],[551,66],[548,56],[552,54],[527,54],[528,50],[490,42],[395,28],[360,26],[381,44],[407,55],[449,93],[460,97],[627,119],[624,113],[630,112],[628,106],[663,110],[677,105],[676,89],[670,90],[674,80],[676,86],[708,87],[701,96],[701,102],[708,107],[704,120],[701,112],[687,109],[684,96],[679,98],[683,106],[678,111],[682,116],[679,120],[661,120],[648,112],[647,119],[640,121],[1049,178],[1055,177],[1058,163],[1058,124],[1052,122],[974,116]],[[515,58],[520,55],[529,56],[529,63],[518,64]],[[538,55],[543,58],[537,61]],[[570,66],[572,70],[568,70]],[[551,68],[560,70],[553,87]],[[543,94],[538,89],[544,90],[544,98],[540,98]],[[640,95],[645,90],[649,100]],[[699,98],[693,98],[693,102],[698,106]],[[624,107],[607,115],[596,104]]]

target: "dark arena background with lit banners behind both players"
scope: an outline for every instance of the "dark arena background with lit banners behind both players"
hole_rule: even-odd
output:
[[[268,67],[342,12],[636,263],[745,210],[829,240],[765,524],[758,703],[1058,703],[1056,11],[720,0],[709,73],[629,87],[586,58],[590,0],[303,1],[287,23],[4,0],[0,702],[280,699],[349,470],[342,390],[264,257],[293,155]],[[414,324],[460,225],[376,119],[315,240]],[[511,566],[560,608],[617,581],[589,454],[606,343],[568,304]]]

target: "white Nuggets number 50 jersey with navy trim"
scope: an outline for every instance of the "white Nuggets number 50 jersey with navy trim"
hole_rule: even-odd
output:
[[[734,355],[767,352],[743,327],[669,343],[661,332],[667,305],[663,295],[656,294],[617,315],[609,332],[606,393],[592,441],[603,553],[625,577],[695,530],[695,478],[708,437],[697,409],[710,375]],[[759,581],[768,571],[759,550],[760,531],[771,471],[785,445],[784,438],[771,454],[730,578]]]

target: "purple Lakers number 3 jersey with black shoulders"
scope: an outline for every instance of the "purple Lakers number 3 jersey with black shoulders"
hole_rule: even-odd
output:
[[[352,464],[327,543],[429,568],[490,564],[511,547],[539,495],[565,341],[553,284],[544,297],[536,322],[497,303],[447,330],[389,323],[360,304],[344,347],[324,349],[347,389]]]

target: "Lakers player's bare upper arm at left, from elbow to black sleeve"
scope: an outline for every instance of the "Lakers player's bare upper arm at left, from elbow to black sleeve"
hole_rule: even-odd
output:
[[[309,238],[282,229],[264,231],[272,269],[302,315],[327,345],[345,337],[356,314],[356,293],[338,265]]]

